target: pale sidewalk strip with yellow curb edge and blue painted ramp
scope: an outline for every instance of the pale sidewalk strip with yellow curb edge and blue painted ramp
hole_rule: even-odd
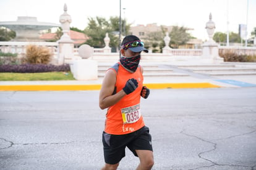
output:
[[[45,90],[100,90],[98,80],[67,81],[2,81],[0,91],[45,91]],[[198,77],[144,77],[144,85],[151,89],[163,88],[220,88],[256,87],[255,75],[222,76],[202,79]]]

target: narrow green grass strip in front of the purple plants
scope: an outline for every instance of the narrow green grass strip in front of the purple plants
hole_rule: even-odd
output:
[[[0,81],[75,80],[71,72],[1,72]]]

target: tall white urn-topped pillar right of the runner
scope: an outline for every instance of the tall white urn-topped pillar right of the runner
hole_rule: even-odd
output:
[[[203,43],[202,59],[209,62],[223,62],[224,59],[219,56],[218,44],[213,40],[213,33],[215,31],[215,23],[211,20],[211,13],[209,21],[206,23],[209,40]]]

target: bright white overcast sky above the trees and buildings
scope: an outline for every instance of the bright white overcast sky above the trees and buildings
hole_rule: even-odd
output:
[[[88,17],[119,16],[120,0],[0,0],[0,22],[18,16],[37,17],[40,22],[59,23],[64,4],[72,17],[70,27],[83,30]],[[247,11],[247,2],[248,11]],[[123,10],[125,8],[125,10]],[[132,25],[157,23],[193,28],[193,36],[208,39],[205,24],[212,14],[215,32],[238,33],[239,24],[248,23],[248,32],[256,27],[256,0],[121,0],[121,15]],[[247,17],[248,14],[248,17]],[[228,26],[229,21],[229,26]]]

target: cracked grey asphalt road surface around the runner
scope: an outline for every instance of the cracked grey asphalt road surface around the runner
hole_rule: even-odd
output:
[[[99,91],[1,91],[0,169],[100,169]],[[153,169],[256,169],[256,88],[151,90]],[[119,169],[135,169],[129,150]]]

